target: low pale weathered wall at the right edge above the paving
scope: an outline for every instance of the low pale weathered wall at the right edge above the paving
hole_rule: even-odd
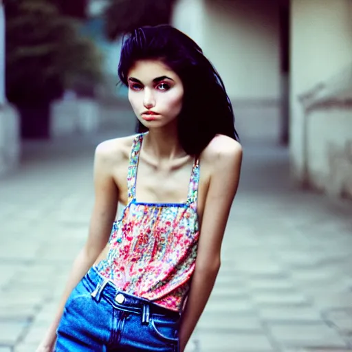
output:
[[[352,108],[336,104],[306,118],[310,186],[352,199]]]

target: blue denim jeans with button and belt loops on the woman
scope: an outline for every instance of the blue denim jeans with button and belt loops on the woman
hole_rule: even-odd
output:
[[[94,268],[69,296],[55,352],[178,352],[180,314],[119,291]]]

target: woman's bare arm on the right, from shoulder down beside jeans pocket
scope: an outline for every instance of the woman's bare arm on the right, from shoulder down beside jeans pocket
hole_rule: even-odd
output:
[[[180,351],[203,312],[220,268],[223,234],[239,184],[242,148],[234,140],[223,140],[214,151],[210,184],[201,223],[195,272],[179,331]]]

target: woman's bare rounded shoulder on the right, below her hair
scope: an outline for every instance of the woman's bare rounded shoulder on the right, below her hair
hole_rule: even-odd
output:
[[[242,146],[227,135],[216,135],[203,150],[202,158],[212,169],[241,164]],[[221,168],[223,168],[221,167]]]

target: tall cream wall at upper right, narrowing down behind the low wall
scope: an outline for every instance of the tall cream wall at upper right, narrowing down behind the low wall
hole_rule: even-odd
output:
[[[294,177],[305,180],[305,115],[300,94],[352,63],[352,1],[292,0],[290,149]]]

